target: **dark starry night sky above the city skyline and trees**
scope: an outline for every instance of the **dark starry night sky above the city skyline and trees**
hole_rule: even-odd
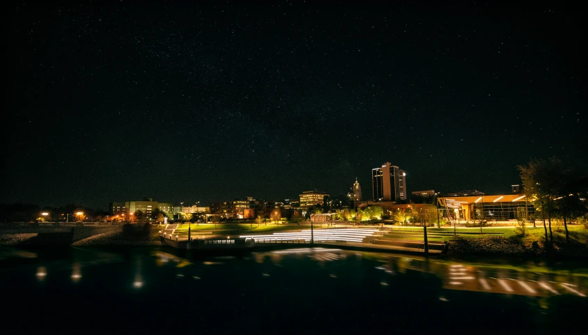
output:
[[[0,202],[336,196],[355,177],[369,198],[384,162],[409,192],[489,194],[532,157],[587,164],[580,8],[208,2],[6,8]]]

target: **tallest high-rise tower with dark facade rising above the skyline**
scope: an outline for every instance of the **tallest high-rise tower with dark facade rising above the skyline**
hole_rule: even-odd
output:
[[[389,162],[371,169],[373,200],[406,200],[406,172]]]

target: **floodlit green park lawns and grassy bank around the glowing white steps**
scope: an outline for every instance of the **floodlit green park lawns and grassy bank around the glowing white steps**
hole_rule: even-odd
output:
[[[339,225],[337,228],[353,225]],[[242,234],[272,234],[274,232],[295,232],[309,229],[310,223],[217,223],[217,224],[180,224],[174,231],[181,239],[187,239],[188,228],[192,239],[209,239],[218,237],[237,237]],[[314,224],[315,230],[326,230],[333,227],[327,223]],[[421,245],[424,240],[423,227],[407,227],[398,225],[355,225],[355,227],[378,228],[378,234],[366,237],[366,245],[409,247]],[[568,225],[569,242],[565,231],[560,225],[548,230],[548,242],[545,240],[543,225],[528,226],[524,232],[520,227],[427,227],[427,239],[431,248],[447,245],[447,252],[453,255],[510,255],[510,256],[541,256],[561,255],[564,257],[588,257],[588,229],[583,225]]]

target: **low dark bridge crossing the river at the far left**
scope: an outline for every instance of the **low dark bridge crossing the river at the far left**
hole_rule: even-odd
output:
[[[72,242],[122,230],[119,222],[10,222],[0,223],[0,234],[71,234]],[[68,237],[69,239],[69,237]]]

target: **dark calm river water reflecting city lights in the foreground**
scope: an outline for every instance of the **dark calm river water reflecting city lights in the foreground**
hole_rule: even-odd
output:
[[[3,315],[19,333],[588,334],[588,270],[578,264],[174,252],[3,248]]]

